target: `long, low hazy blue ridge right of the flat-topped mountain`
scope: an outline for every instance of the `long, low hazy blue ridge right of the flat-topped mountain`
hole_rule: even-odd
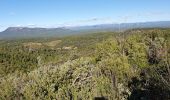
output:
[[[170,28],[170,21],[139,22],[139,23],[120,23],[120,24],[101,24],[93,26],[80,26],[70,28],[71,30],[87,31],[122,31],[136,28]]]

